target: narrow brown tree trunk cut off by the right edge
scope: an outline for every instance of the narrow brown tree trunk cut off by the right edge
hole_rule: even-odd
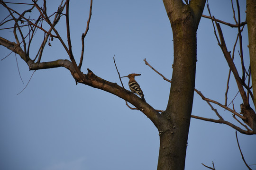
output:
[[[249,38],[250,67],[252,73],[252,85],[254,104],[256,104],[256,1],[247,0],[247,26]]]

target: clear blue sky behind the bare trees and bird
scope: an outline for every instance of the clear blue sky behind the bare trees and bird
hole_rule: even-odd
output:
[[[212,15],[234,23],[230,0],[209,0],[209,3]],[[58,4],[59,1],[48,2],[49,13],[55,11]],[[89,5],[89,0],[70,2],[70,29],[77,60]],[[21,5],[15,7],[20,11],[25,9]],[[246,4],[242,0],[240,8],[244,21]],[[3,7],[0,7],[0,13],[1,20],[8,14]],[[204,14],[209,15],[206,8]],[[56,28],[66,40],[64,17]],[[223,25],[221,28],[231,51],[237,30]],[[0,30],[0,36],[14,41],[11,30]],[[197,38],[196,88],[205,97],[223,103],[229,68],[209,19],[201,18]],[[113,63],[115,55],[121,76],[140,73],[136,79],[146,101],[155,109],[165,110],[170,84],[147,67],[143,59],[171,79],[172,40],[171,25],[161,0],[94,0],[82,71],[86,73],[86,68],[90,68],[97,76],[120,85]],[[35,39],[31,58],[37,53],[41,41],[41,35]],[[68,59],[57,39],[51,44],[52,47],[46,45],[42,61]],[[243,45],[248,66],[247,44],[245,27]],[[0,51],[0,59],[9,54],[2,46]],[[235,61],[239,62],[237,51],[238,48]],[[156,170],[158,131],[140,111],[128,109],[125,101],[110,93],[75,85],[65,68],[37,70],[27,88],[17,95],[33,73],[19,58],[18,67],[24,84],[19,78],[14,54],[0,61],[0,169]],[[123,83],[128,89],[127,78]],[[232,77],[229,102],[237,92]],[[234,100],[237,111],[241,103],[238,96]],[[216,108],[224,119],[234,122],[231,113]],[[196,93],[192,114],[217,119]],[[247,163],[256,164],[256,136],[238,133],[238,138]],[[217,170],[246,169],[233,128],[191,119],[185,169],[205,170],[201,163],[211,166],[212,161]]]

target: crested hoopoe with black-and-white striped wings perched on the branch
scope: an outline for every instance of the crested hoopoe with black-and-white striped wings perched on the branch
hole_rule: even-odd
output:
[[[122,76],[122,77],[128,77],[129,78],[129,82],[128,82],[128,85],[129,85],[129,88],[130,90],[133,92],[133,93],[137,93],[140,98],[146,102],[145,98],[144,98],[144,94],[140,88],[140,86],[138,85],[137,81],[134,79],[135,76],[140,76],[140,74],[136,74],[136,73],[132,73],[132,74],[129,74],[128,76]],[[121,78],[122,78],[121,77]]]

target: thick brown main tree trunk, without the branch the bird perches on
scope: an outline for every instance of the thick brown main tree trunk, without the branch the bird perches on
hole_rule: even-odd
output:
[[[184,170],[192,112],[196,70],[196,31],[205,0],[163,0],[174,37],[172,85],[166,122],[159,127],[160,151],[157,170]]]

